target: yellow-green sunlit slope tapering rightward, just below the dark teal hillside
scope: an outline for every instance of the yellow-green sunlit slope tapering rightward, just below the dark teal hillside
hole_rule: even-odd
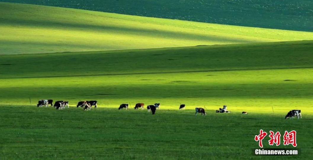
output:
[[[0,54],[313,39],[313,33],[0,3]]]

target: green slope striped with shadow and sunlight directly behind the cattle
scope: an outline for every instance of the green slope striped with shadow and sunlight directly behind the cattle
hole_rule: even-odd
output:
[[[0,56],[0,103],[159,102],[313,114],[313,41]]]

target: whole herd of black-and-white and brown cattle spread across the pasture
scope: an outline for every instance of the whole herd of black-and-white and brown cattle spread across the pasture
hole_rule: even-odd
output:
[[[95,106],[95,108],[97,108],[97,101],[79,101],[78,104],[76,105],[77,108],[78,107],[82,107],[84,109],[84,111],[89,111],[91,110],[92,106]],[[53,104],[53,100],[39,100],[37,107],[49,107],[49,105],[52,106]],[[63,110],[66,106],[69,108],[69,101],[56,101],[53,105],[57,110]],[[138,110],[139,108],[141,108],[141,110],[144,110],[144,103],[137,103],[135,105],[135,110]],[[121,109],[126,109],[128,110],[128,104],[121,104],[120,107],[118,108],[119,110]],[[156,109],[160,109],[160,103],[155,103],[154,105],[148,105],[147,106],[147,110],[148,112],[152,112],[152,114],[154,115],[156,112]],[[179,110],[184,110],[185,109],[185,105],[181,104],[179,106]],[[196,107],[196,116],[198,115],[198,113],[201,113],[201,115],[206,116],[207,113],[205,112],[205,110],[203,108],[198,108]],[[219,108],[219,110],[216,110],[216,113],[230,113],[230,111],[227,110],[227,106],[224,105],[223,108]],[[248,112],[243,111],[242,114],[248,114]],[[297,118],[302,118],[301,116],[301,110],[291,110],[287,113],[287,115],[285,116],[285,119],[290,118],[293,119],[295,116],[297,116]]]

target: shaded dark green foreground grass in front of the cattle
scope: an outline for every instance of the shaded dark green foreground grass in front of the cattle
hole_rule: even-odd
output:
[[[312,115],[285,120],[272,113],[194,116],[193,110],[161,109],[151,115],[146,110],[0,107],[1,159],[310,159],[313,149]],[[260,129],[296,130],[301,154],[253,156]]]

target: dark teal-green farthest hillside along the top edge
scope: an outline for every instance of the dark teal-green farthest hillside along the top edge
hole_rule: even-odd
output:
[[[313,31],[310,0],[0,0],[239,26]]]

